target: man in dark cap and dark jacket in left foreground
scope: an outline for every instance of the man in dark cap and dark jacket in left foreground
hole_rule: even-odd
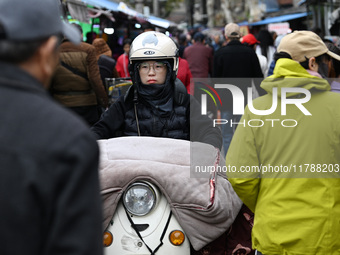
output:
[[[0,1],[0,254],[102,254],[96,141],[45,90],[80,42],[58,2]]]

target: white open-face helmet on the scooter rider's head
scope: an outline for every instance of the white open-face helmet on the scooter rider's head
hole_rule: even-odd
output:
[[[149,31],[138,35],[130,48],[130,66],[133,68],[136,61],[154,59],[171,60],[172,74],[176,78],[178,71],[178,48],[175,42],[167,35]],[[132,70],[131,70],[132,71]]]

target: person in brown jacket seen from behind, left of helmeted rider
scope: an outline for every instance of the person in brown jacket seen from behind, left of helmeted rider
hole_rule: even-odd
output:
[[[90,126],[99,120],[101,109],[108,107],[108,96],[100,77],[96,50],[91,44],[63,41],[51,93]]]

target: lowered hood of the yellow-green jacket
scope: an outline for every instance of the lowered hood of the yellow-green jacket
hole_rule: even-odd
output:
[[[261,83],[261,87],[272,94],[273,88],[278,88],[278,96],[281,97],[281,88],[304,88],[308,90],[330,90],[327,80],[311,75],[298,62],[282,58],[276,62],[273,75],[267,77]],[[287,93],[288,97],[297,96],[300,93]]]

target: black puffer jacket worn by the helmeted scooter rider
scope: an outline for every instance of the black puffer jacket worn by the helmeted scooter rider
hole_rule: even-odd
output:
[[[187,94],[181,81],[177,79],[176,82],[184,90],[185,99],[183,103],[174,100],[173,110],[169,116],[157,115],[142,100],[135,100],[134,87],[131,87],[127,95],[118,98],[91,130],[98,139],[138,136],[139,130],[141,136],[198,141],[221,149],[221,131],[213,127],[210,118],[201,115],[199,103],[193,96]]]

